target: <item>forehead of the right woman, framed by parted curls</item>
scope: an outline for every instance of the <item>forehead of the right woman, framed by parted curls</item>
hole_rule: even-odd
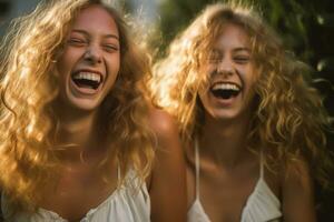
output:
[[[235,48],[249,49],[249,36],[242,27],[228,23],[224,26],[222,32],[214,41],[214,48],[220,50]]]

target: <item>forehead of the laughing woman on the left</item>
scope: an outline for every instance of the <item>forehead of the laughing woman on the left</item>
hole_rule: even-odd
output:
[[[112,33],[118,36],[118,28],[112,16],[101,6],[92,4],[82,9],[73,21],[72,29],[92,33]]]

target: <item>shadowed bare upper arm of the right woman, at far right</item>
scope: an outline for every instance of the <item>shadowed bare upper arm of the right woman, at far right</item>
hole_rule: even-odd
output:
[[[283,215],[287,222],[315,222],[313,181],[304,161],[292,163],[283,178]]]

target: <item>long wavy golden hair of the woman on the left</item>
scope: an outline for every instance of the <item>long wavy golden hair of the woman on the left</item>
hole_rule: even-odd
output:
[[[143,102],[147,101],[144,82],[150,75],[147,53],[129,38],[127,24],[110,4],[42,1],[11,24],[1,44],[0,185],[14,211],[33,212],[42,198],[40,189],[59,170],[52,141],[58,124],[52,111],[58,97],[56,63],[76,16],[90,4],[104,7],[120,34],[120,70],[100,112],[102,135],[112,149],[100,168],[115,160],[122,172],[132,169],[143,182],[151,171],[155,144],[146,127],[148,104]]]

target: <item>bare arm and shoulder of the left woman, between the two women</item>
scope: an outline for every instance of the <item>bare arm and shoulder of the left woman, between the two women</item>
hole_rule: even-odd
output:
[[[158,150],[150,178],[153,222],[186,221],[186,170],[177,127],[167,113],[154,110],[150,124]]]

